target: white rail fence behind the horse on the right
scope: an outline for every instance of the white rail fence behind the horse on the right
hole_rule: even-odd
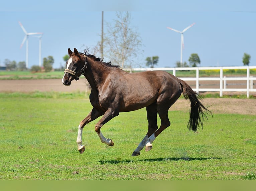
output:
[[[234,69],[246,69],[247,75],[244,77],[225,77],[223,76],[223,70],[234,70]],[[196,92],[220,92],[220,96],[223,96],[223,92],[246,92],[249,97],[250,92],[256,92],[253,88],[253,81],[256,77],[250,76],[250,69],[256,69],[256,66],[240,66],[240,67],[189,67],[189,68],[134,68],[132,71],[153,71],[153,70],[165,70],[172,71],[172,74],[176,76],[178,70],[196,70],[195,78],[180,78],[184,81],[196,81],[196,88],[193,90]],[[200,70],[220,70],[220,77],[199,77]],[[127,69],[126,71],[129,71]],[[130,70],[131,71],[131,70]],[[200,88],[200,81],[219,81],[219,88]],[[227,88],[227,81],[246,81],[246,88]]]

